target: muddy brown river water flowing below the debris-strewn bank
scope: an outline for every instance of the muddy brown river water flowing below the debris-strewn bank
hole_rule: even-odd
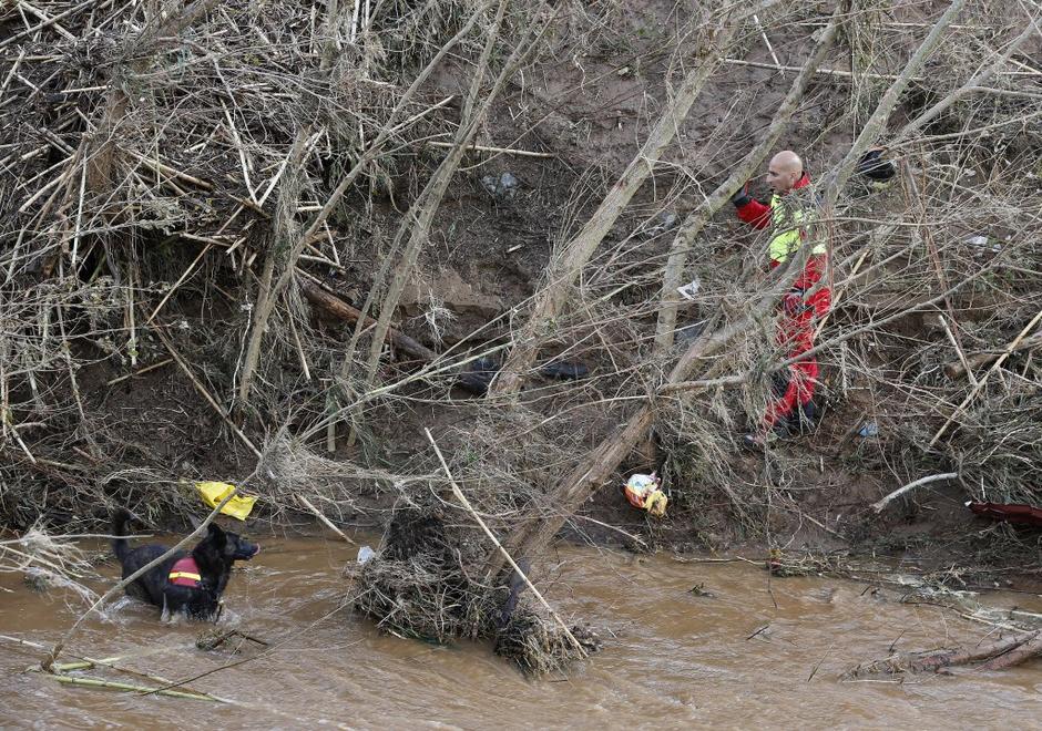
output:
[[[594,625],[605,648],[568,678],[530,680],[486,645],[399,639],[337,611],[347,589],[341,567],[356,552],[321,539],[268,539],[236,573],[222,624],[268,640],[272,649],[192,683],[235,706],[59,684],[25,671],[39,651],[0,641],[0,725],[940,729],[1028,728],[1042,718],[1038,662],[903,683],[841,682],[844,670],[886,656],[895,641],[898,649],[922,649],[975,644],[991,631],[951,611],[874,596],[864,583],[774,579],[768,593],[765,572],[740,562],[564,548],[546,594],[564,615]],[[99,570],[118,574],[114,564]],[[691,594],[696,585],[713,596]],[[987,601],[1042,608],[1030,595]],[[51,644],[82,609],[60,591],[41,595],[13,575],[0,576],[4,635]],[[123,598],[85,621],[69,651],[137,656],[122,665],[174,679],[256,655],[253,648],[197,650],[201,629],[161,622],[153,608]],[[81,675],[135,682],[111,671]]]

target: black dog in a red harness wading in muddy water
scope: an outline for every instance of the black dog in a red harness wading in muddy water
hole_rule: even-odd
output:
[[[151,545],[134,548],[126,543],[131,514],[119,508],[112,515],[112,553],[123,565],[123,578],[149,564],[168,548]],[[255,543],[211,523],[206,537],[192,553],[178,550],[126,585],[126,594],[162,607],[164,612],[180,611],[193,619],[216,619],[221,595],[228,584],[232,564],[249,560],[260,552]]]

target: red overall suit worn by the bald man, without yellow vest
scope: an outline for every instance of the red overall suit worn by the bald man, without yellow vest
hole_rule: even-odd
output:
[[[794,188],[803,188],[809,184],[810,178],[805,174],[797,181]],[[775,200],[778,200],[778,198],[773,198],[772,203]],[[738,208],[737,213],[742,220],[754,228],[767,228],[775,222],[772,206],[764,205],[755,199]],[[784,235],[784,231],[778,231],[776,226],[775,237],[782,235]],[[799,231],[800,243],[806,237],[806,229],[801,228]],[[776,247],[770,248],[774,250]],[[784,264],[785,260],[785,256],[782,256],[782,258],[772,256],[770,268],[774,269]],[[811,294],[825,272],[826,254],[813,253],[807,259],[804,270],[793,282],[793,289],[782,299],[777,342],[787,359],[798,358],[814,347],[814,331],[817,322],[828,312],[831,303],[831,291],[827,286],[819,287]],[[798,416],[797,409],[806,406],[814,398],[817,381],[818,361],[814,356],[801,358],[789,366],[785,390],[767,405],[767,411],[760,422],[762,431],[769,431],[782,419]]]

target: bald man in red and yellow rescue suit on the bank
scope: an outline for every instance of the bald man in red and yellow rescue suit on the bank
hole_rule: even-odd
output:
[[[809,214],[795,192],[810,185],[803,161],[789,151],[779,152],[767,166],[767,184],[774,191],[770,203],[765,205],[748,195],[745,186],[732,197],[738,217],[754,228],[770,228],[772,238],[767,249],[772,269],[785,264],[789,257],[807,243]],[[828,312],[831,291],[827,286],[817,287],[826,272],[826,247],[824,241],[814,246],[803,271],[783,297],[778,320],[777,342],[786,359],[799,358],[814,347],[817,322]],[[790,429],[809,425],[814,419],[815,385],[818,380],[818,361],[814,356],[799,358],[788,367],[775,384],[774,399],[753,434],[745,435],[745,443],[763,447],[772,434],[785,434]]]

